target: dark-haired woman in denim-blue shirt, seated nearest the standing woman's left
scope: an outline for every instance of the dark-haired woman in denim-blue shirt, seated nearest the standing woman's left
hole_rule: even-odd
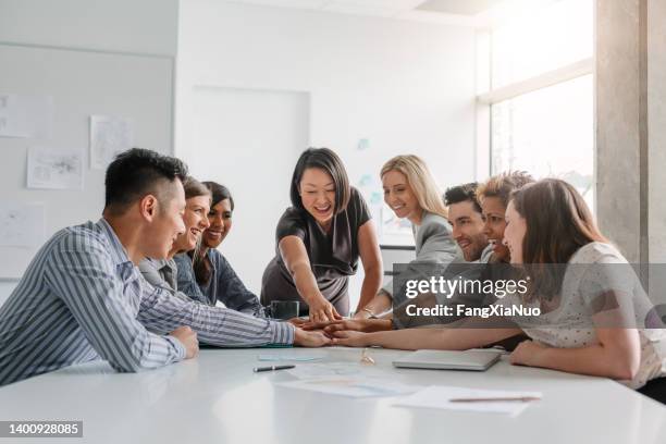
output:
[[[232,227],[234,199],[229,189],[215,182],[203,182],[212,195],[208,221],[201,243],[174,260],[178,269],[178,288],[203,304],[225,307],[244,313],[263,317],[259,298],[240,281],[226,258],[217,249]]]

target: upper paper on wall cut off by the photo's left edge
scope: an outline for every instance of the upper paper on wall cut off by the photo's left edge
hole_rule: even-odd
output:
[[[0,137],[51,137],[53,98],[0,94]]]

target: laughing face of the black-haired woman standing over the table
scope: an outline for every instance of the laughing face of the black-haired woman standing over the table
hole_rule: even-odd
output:
[[[303,172],[298,185],[300,201],[307,212],[322,226],[326,226],[335,213],[335,183],[333,177],[319,168]]]

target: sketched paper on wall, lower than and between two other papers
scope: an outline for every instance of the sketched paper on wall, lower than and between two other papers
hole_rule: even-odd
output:
[[[83,152],[32,147],[27,152],[27,187],[83,189]]]

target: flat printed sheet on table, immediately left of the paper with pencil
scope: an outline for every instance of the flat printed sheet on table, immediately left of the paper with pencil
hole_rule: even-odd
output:
[[[354,377],[329,377],[309,380],[281,382],[278,385],[286,388],[308,390],[311,392],[349,397],[400,396],[420,388],[391,380],[378,380]]]

